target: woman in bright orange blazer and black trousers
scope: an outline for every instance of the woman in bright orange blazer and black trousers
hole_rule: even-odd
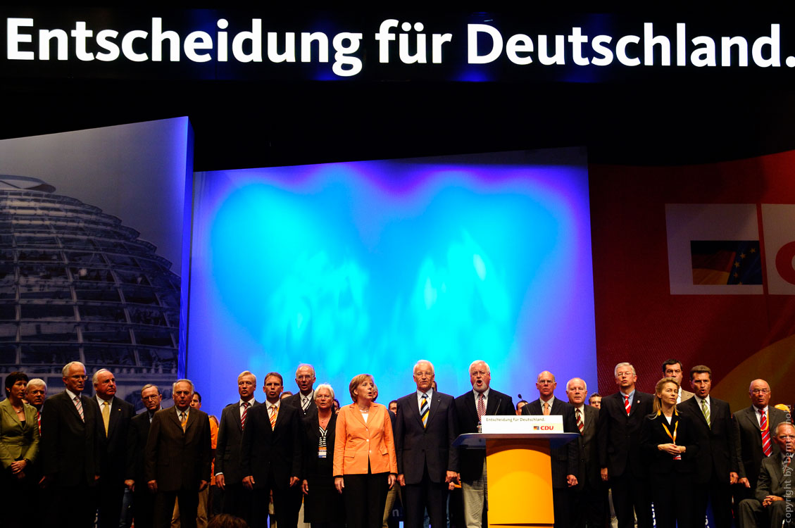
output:
[[[386,407],[373,402],[373,376],[354,376],[348,390],[353,403],[337,415],[334,486],[343,494],[348,528],[379,528],[397,476],[392,422]]]

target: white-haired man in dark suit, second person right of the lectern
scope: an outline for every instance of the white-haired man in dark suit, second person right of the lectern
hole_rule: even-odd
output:
[[[599,477],[599,453],[596,445],[596,425],[599,409],[585,405],[588,386],[580,378],[566,383],[568,402],[574,407],[574,420],[580,438],[577,439],[577,486],[574,489],[571,526],[604,528],[607,524],[607,486]]]

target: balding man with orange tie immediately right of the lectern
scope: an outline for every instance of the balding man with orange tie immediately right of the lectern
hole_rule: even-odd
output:
[[[563,417],[564,433],[580,433],[574,419],[574,407],[567,402],[555,398],[557,382],[552,372],[543,371],[536,378],[538,399],[522,407],[522,414],[528,416],[560,416]],[[577,443],[574,441],[559,448],[549,450],[552,463],[552,498],[555,512],[556,528],[570,526],[570,501],[573,498],[569,488],[577,485],[579,464],[577,460]]]

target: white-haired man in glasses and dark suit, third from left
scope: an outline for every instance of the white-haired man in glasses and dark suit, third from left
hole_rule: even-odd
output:
[[[55,499],[50,524],[93,526],[102,421],[96,402],[82,394],[83,363],[67,363],[63,376],[66,389],[47,398],[41,413],[42,469]]]

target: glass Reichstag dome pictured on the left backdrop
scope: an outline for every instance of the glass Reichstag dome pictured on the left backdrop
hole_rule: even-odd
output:
[[[105,367],[117,396],[137,407],[142,380],[170,397],[180,323],[172,263],[120,219],[55,190],[0,175],[0,370],[40,377],[54,394],[77,359],[87,394]]]

